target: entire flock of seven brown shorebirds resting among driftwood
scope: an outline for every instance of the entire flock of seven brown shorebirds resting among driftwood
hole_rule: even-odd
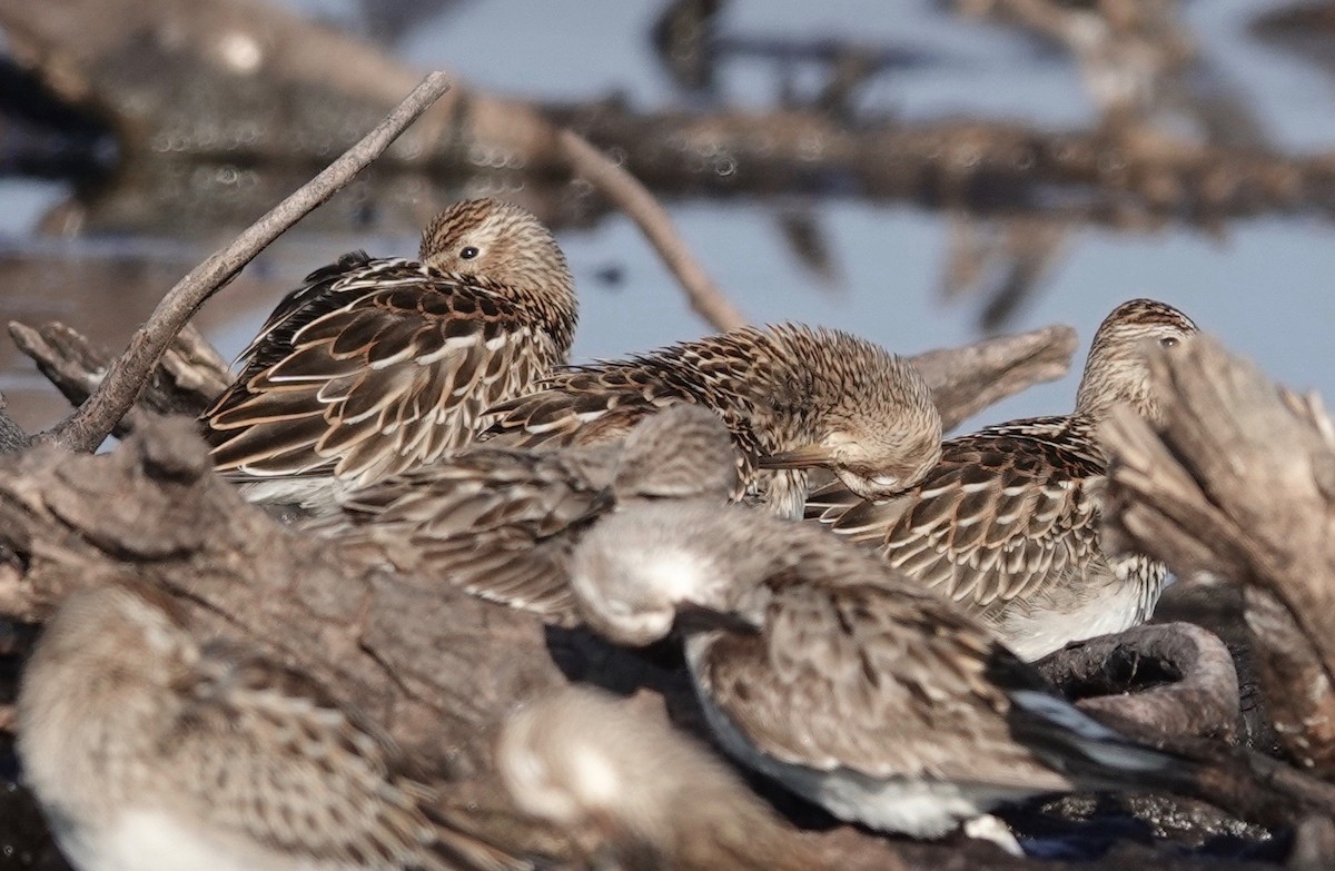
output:
[[[311,274],[202,415],[216,469],[350,558],[639,647],[685,647],[714,744],[868,828],[957,828],[1075,790],[1171,784],[1028,661],[1155,608],[1100,549],[1100,421],[1159,405],[1147,299],[1099,327],[1069,414],[943,441],[894,354],[800,325],[566,366],[574,282],[527,211],[458,203],[418,260]],[[308,677],[196,637],[164,596],[71,596],[17,704],[25,779],[81,871],[522,868],[445,819]],[[705,744],[589,688],[497,737],[515,807],[597,867],[818,867]],[[574,836],[574,835],[573,835]],[[618,866],[621,863],[621,866]]]

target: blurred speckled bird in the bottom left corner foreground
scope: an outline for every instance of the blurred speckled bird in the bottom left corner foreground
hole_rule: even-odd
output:
[[[71,594],[17,713],[25,777],[80,871],[531,867],[447,823],[308,677],[199,644],[148,590]]]

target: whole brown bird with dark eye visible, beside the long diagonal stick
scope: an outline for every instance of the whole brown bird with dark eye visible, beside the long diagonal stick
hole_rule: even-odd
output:
[[[202,415],[215,468],[252,501],[318,504],[433,462],[566,361],[575,318],[565,255],[534,215],[457,203],[419,260],[347,254],[279,303]]]

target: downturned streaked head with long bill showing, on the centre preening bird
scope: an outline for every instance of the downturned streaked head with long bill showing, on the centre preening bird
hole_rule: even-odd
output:
[[[862,498],[909,488],[941,458],[932,389],[904,359],[845,333],[817,333],[810,358],[816,440],[761,460],[768,469],[825,466]]]

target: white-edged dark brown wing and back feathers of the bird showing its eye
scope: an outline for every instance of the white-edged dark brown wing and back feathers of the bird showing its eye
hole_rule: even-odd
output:
[[[204,413],[219,470],[364,482],[430,462],[559,355],[482,279],[366,260],[322,281]]]

